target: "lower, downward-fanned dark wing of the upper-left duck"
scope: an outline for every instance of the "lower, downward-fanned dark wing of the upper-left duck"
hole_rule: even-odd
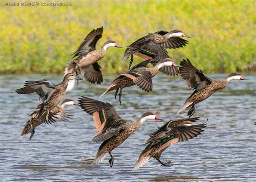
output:
[[[103,76],[102,72],[100,72],[100,67],[98,62],[95,62],[94,64],[90,66],[85,66],[83,67],[84,71],[84,78],[89,81],[90,83],[95,83],[100,84],[103,82]]]

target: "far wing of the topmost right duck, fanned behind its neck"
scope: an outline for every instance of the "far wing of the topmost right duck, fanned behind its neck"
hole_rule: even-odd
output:
[[[166,33],[168,33],[167,31],[164,30],[160,30],[157,31],[155,33],[160,34],[161,36],[164,36]],[[188,40],[185,40],[183,38],[180,37],[171,37],[170,39],[168,39],[165,43],[161,44],[162,47],[164,48],[180,48],[183,46],[186,46],[186,44],[188,44]]]

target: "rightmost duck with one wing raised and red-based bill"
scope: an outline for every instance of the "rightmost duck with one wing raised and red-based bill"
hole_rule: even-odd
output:
[[[196,111],[195,104],[207,99],[217,90],[225,88],[229,81],[246,80],[237,72],[227,75],[223,80],[212,80],[208,78],[203,71],[194,67],[188,59],[181,61],[180,65],[181,67],[179,71],[181,78],[186,81],[187,86],[190,87],[190,89],[194,89],[194,92],[190,97],[188,97],[183,107],[178,111],[178,114],[182,113],[186,108],[191,107],[187,113],[189,117],[191,117],[194,114],[194,111]]]

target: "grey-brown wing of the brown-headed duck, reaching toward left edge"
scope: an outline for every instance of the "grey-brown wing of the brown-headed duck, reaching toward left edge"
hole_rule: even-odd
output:
[[[39,95],[40,102],[47,100],[52,92],[54,92],[55,87],[52,86],[47,80],[39,81],[25,81],[25,87],[15,90],[17,94],[31,94],[36,92]]]

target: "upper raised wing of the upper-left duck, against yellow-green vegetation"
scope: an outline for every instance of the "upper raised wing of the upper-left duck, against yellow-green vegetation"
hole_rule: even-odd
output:
[[[84,41],[79,45],[76,52],[74,52],[73,58],[77,57],[78,55],[84,55],[88,52],[95,50],[95,46],[97,41],[102,38],[103,33],[103,26],[99,27],[98,29],[93,29],[85,38]]]

